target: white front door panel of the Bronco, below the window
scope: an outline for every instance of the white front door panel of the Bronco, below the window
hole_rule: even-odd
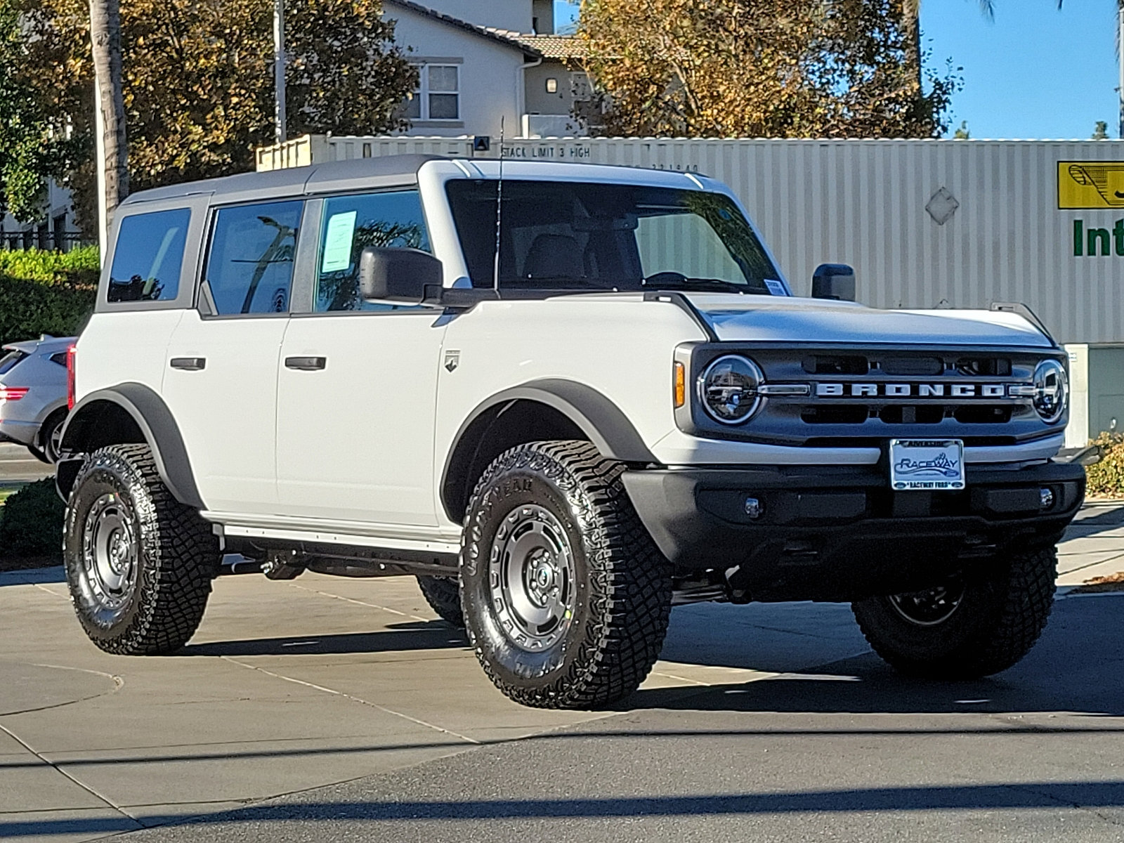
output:
[[[445,328],[434,310],[294,317],[278,375],[284,515],[435,525],[433,434]]]

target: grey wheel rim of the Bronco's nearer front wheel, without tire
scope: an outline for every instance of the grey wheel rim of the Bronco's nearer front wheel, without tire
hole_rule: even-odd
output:
[[[488,582],[507,638],[538,652],[561,640],[573,620],[573,551],[554,515],[535,504],[513,509],[492,540]]]

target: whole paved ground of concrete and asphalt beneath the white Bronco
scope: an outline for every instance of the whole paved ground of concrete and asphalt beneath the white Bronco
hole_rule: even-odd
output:
[[[620,710],[559,713],[410,580],[223,578],[158,659],[93,649],[60,580],[0,575],[0,839],[1124,837],[1124,595],[968,685],[897,678],[843,606],[680,607]]]

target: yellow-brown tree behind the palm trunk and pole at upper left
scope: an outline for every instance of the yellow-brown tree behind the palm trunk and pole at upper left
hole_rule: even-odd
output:
[[[89,136],[92,66],[85,0],[22,2],[42,97]],[[252,170],[273,139],[270,0],[121,0],[133,190]],[[393,45],[379,0],[289,0],[289,130],[371,134],[405,126],[416,71]],[[75,178],[83,223],[93,167]]]

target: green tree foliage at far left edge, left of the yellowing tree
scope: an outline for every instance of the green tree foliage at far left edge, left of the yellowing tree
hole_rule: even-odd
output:
[[[24,223],[43,216],[44,179],[61,178],[81,149],[47,118],[27,52],[19,7],[0,0],[0,216]]]

